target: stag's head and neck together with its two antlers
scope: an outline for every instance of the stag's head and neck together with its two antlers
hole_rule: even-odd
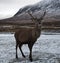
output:
[[[28,12],[28,14],[31,16],[32,21],[35,22],[36,37],[39,37],[41,33],[41,24],[42,24],[41,21],[43,20],[46,11],[44,11],[44,14],[40,18],[34,17],[31,12]]]

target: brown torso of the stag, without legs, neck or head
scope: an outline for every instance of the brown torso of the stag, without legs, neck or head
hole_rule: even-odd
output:
[[[30,28],[20,28],[18,31],[15,32],[15,38],[16,40],[20,42],[28,42],[33,39],[36,40],[41,33],[41,28],[35,28],[35,27],[30,27]]]

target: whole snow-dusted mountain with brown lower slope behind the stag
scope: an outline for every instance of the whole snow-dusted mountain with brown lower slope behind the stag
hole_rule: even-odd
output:
[[[26,11],[31,11],[34,17],[40,18],[43,12],[46,10],[47,13],[44,17],[43,22],[54,22],[60,26],[60,0],[42,0],[34,5],[29,5],[19,9],[19,11],[11,18],[0,20],[0,22],[28,22],[31,17]],[[51,24],[52,24],[51,23]],[[47,24],[48,25],[48,24]]]

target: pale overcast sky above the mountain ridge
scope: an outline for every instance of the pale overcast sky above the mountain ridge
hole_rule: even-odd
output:
[[[41,0],[0,0],[0,19],[13,16],[20,8]]]

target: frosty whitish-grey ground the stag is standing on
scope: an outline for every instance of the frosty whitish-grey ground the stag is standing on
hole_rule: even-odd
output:
[[[60,63],[60,35],[41,34],[33,47],[33,62],[29,61],[27,45],[22,47],[26,58],[23,58],[19,49],[19,59],[15,58],[14,34],[0,34],[0,63]]]

